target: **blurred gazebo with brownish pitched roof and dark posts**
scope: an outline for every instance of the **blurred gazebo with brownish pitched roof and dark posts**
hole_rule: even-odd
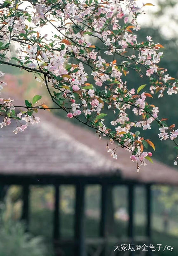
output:
[[[147,227],[144,239],[151,237],[151,186],[153,184],[178,185],[178,172],[154,160],[147,163],[140,172],[129,160],[127,151],[118,151],[118,160],[110,157],[106,149],[107,141],[98,140],[93,132],[75,126],[41,110],[41,122],[28,127],[28,131],[14,135],[12,125],[1,129],[0,184],[23,186],[23,219],[29,221],[29,186],[35,184],[55,187],[53,237],[56,255],[59,247],[73,246],[76,256],[86,256],[89,244],[100,245],[93,255],[106,255],[109,241],[106,230],[106,209],[109,207],[108,188],[115,185],[128,187],[128,241],[136,241],[133,232],[134,187],[142,185],[146,189]],[[14,122],[14,128],[16,123]],[[30,161],[30,164],[29,164]],[[60,238],[59,186],[73,184],[76,187],[74,237]],[[101,186],[101,215],[99,238],[85,239],[84,232],[84,191],[87,184]],[[113,243],[117,238],[112,238]],[[145,240],[144,240],[145,241]],[[114,253],[114,252],[113,252]],[[117,255],[111,254],[111,255]],[[109,255],[107,255],[109,256]]]

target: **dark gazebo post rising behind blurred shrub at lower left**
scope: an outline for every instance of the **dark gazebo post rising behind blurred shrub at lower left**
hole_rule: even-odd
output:
[[[26,231],[29,229],[29,185],[24,185],[22,190],[22,220],[25,221]]]

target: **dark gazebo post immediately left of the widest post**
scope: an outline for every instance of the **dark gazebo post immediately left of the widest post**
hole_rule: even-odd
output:
[[[55,185],[53,232],[54,242],[57,242],[59,239],[59,185]]]

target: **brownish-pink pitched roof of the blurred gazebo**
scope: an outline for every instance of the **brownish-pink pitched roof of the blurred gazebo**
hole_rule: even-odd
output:
[[[121,176],[141,183],[178,185],[178,172],[154,160],[136,172],[126,150],[118,159],[107,152],[107,140],[91,130],[57,118],[48,111],[39,113],[40,123],[15,135],[12,126],[0,130],[0,174]],[[112,149],[112,146],[111,146]]]

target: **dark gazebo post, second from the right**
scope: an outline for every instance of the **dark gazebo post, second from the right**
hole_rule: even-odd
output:
[[[128,237],[133,238],[133,225],[134,225],[134,186],[130,184],[128,187]]]

